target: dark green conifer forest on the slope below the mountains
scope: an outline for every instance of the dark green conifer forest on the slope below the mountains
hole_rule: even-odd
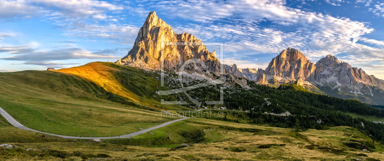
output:
[[[245,89],[240,85],[235,88],[225,88],[224,104],[221,107],[250,111],[248,117],[252,121],[249,123],[318,130],[335,126],[349,126],[384,143],[384,124],[373,123],[363,118],[353,118],[346,114],[346,112],[350,112],[381,118],[384,117],[384,111],[380,107],[376,108],[376,106],[365,104],[357,99],[341,99],[313,93],[296,84],[283,84],[276,88],[255,85],[252,81],[248,81],[248,83],[252,89]],[[205,101],[214,101],[220,96],[217,90],[219,86],[194,89],[189,91],[189,94],[195,98],[204,98]],[[189,101],[187,98],[185,99]],[[203,106],[212,108],[211,105],[204,104],[204,100],[202,100]],[[269,114],[281,114],[286,111],[291,115]]]

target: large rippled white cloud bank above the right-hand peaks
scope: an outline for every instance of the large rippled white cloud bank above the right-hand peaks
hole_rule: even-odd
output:
[[[204,26],[204,24],[180,26],[175,31],[194,33],[205,39],[222,37],[234,46],[238,44],[250,47],[248,49],[262,50],[262,52],[276,52],[287,47],[296,47],[301,50],[318,50],[321,51],[318,53],[325,54],[351,44],[350,40],[354,37],[373,31],[364,23],[348,18],[334,18],[321,13],[286,7],[285,1],[282,0],[238,1],[237,3],[178,1],[177,4],[180,5],[173,3],[159,2],[157,5],[163,7],[162,11],[166,14],[185,19],[204,18],[209,21],[220,21],[221,18],[227,18],[233,20],[232,22],[240,21],[240,23],[215,26]],[[220,10],[220,8],[224,9]],[[189,13],[190,11],[195,14]],[[296,31],[285,33],[274,28],[260,28],[254,23],[262,23],[263,20],[295,26]]]

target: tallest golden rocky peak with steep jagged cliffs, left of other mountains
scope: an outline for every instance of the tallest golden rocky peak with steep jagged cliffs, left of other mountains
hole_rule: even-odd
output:
[[[223,69],[223,73],[220,72],[220,61],[217,59],[215,51],[209,52],[202,41],[192,34],[176,34],[169,24],[157,17],[155,11],[149,13],[137,34],[132,49],[115,63],[148,70],[160,70],[161,62],[164,62],[165,70],[179,72],[180,67],[190,59],[202,60],[206,68],[202,68],[199,63],[189,63],[184,68],[187,73],[195,72],[214,79],[217,79],[217,76],[225,75],[229,82],[247,84],[246,81],[244,84],[244,81],[236,79],[225,69]]]

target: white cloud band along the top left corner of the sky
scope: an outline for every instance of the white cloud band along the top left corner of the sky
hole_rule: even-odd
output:
[[[105,20],[106,12],[123,9],[123,6],[98,0],[0,0],[0,18],[46,16]]]

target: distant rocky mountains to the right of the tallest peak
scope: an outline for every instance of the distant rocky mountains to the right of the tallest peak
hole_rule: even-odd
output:
[[[354,68],[346,62],[327,55],[318,62],[308,60],[299,50],[288,47],[269,63],[265,70],[242,69],[235,64],[225,65],[233,75],[256,81],[259,84],[290,84],[297,81],[307,89],[329,94],[344,92],[356,96],[369,96],[358,98],[365,102],[384,104],[384,81],[374,75],[368,75],[361,68]],[[371,97],[372,96],[372,97]],[[356,97],[347,97],[356,98]],[[376,101],[372,101],[376,100]]]

